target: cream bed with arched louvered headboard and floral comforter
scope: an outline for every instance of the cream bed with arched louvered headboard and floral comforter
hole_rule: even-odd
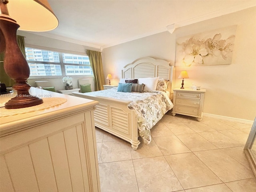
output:
[[[120,92],[117,91],[118,88],[112,88],[72,94],[99,101],[100,104],[94,110],[95,126],[130,142],[132,148],[136,150],[140,144],[138,137],[141,136],[142,141],[149,144],[150,129],[173,107],[170,99],[173,95],[174,66],[170,66],[170,62],[166,60],[144,57],[124,66],[122,70],[122,80],[138,79],[140,84],[140,80],[147,78],[168,80],[166,92],[147,89],[143,92]],[[145,100],[146,102],[143,103]],[[143,105],[146,108],[142,110]]]

